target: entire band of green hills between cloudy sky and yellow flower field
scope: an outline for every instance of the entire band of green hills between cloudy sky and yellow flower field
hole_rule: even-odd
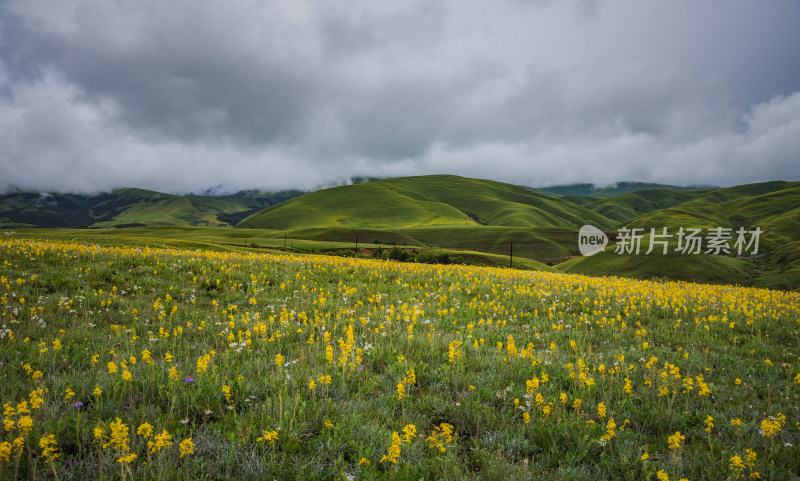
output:
[[[512,252],[515,258],[548,265],[573,259],[579,255],[577,230],[584,224],[600,227],[612,240],[616,229],[623,226],[668,227],[673,235],[680,227],[760,227],[763,256],[757,259],[597,256],[573,259],[559,269],[800,289],[800,262],[795,255],[800,241],[800,183],[776,181],[705,190],[663,187],[623,183],[614,189],[592,191],[608,197],[554,198],[526,187],[480,179],[403,177],[295,196],[253,213],[239,224],[245,227],[241,229],[222,226],[241,220],[260,205],[280,200],[281,195],[297,193],[180,197],[121,189],[91,198],[56,196],[63,206],[59,212],[37,205],[36,194],[9,196],[0,203],[0,218],[32,218],[31,212],[42,214],[44,209],[50,216],[46,225],[61,225],[84,212],[87,225],[146,224],[102,235],[329,253],[354,249],[356,243],[366,249],[381,245],[445,248],[492,254],[494,257],[465,254],[462,259],[493,265],[504,265],[502,256]],[[634,189],[639,190],[629,192]],[[624,193],[609,196],[619,192]]]

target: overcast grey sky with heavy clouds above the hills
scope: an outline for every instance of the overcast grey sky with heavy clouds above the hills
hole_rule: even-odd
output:
[[[798,0],[0,0],[0,191],[800,180]]]

